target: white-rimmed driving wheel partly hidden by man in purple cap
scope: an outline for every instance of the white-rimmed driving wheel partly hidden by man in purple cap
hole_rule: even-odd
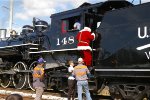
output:
[[[37,65],[37,61],[34,61],[33,63],[31,63],[29,70],[31,70],[31,71],[33,72],[33,69],[34,69],[34,67],[36,67],[36,65]],[[28,75],[28,84],[29,84],[29,87],[30,87],[33,91],[35,91],[35,89],[33,88],[32,72],[29,73],[29,75]]]

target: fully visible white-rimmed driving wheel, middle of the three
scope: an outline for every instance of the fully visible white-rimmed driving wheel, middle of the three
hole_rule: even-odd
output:
[[[19,72],[21,70],[26,70],[26,65],[23,62],[17,62],[14,66],[14,70],[18,71],[16,74],[13,75],[13,85],[17,89],[22,89],[27,82],[27,75],[26,73]]]

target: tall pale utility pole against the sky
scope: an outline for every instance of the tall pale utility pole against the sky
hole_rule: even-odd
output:
[[[10,0],[10,12],[9,12],[9,31],[12,30],[12,23],[13,23],[13,0]]]

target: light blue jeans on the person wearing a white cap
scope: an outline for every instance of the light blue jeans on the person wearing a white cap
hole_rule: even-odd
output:
[[[89,87],[88,87],[88,81],[77,81],[77,88],[78,88],[78,100],[82,100],[82,87],[84,88],[85,94],[86,94],[86,100],[92,100]]]

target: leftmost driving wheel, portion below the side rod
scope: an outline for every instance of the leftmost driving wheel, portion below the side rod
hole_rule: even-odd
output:
[[[0,83],[1,87],[7,88],[8,86],[10,86],[11,79],[12,79],[12,76],[10,74],[3,74],[1,76],[1,83]]]

